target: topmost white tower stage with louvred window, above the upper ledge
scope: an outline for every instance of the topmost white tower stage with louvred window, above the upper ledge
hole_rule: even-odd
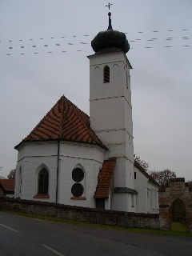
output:
[[[88,56],[90,59],[90,100],[95,98],[118,97],[130,98],[130,62],[123,52]],[[103,87],[103,68],[110,67],[110,82]],[[117,86],[118,85],[118,86]],[[98,87],[100,90],[98,90]],[[127,90],[128,89],[128,90]],[[106,94],[105,94],[106,91]],[[101,94],[103,92],[104,94]]]

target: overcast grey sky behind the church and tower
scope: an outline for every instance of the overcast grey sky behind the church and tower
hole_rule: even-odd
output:
[[[126,56],[133,66],[134,152],[149,162],[150,170],[168,168],[188,181],[192,179],[192,1],[112,3],[113,29],[127,33],[131,48]],[[94,54],[90,41],[108,26],[106,4],[0,0],[0,176],[15,168],[14,146],[62,94],[89,114],[86,56]]]

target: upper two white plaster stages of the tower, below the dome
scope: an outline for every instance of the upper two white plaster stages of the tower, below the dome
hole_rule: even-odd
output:
[[[127,118],[132,117],[129,102],[130,86],[127,86],[130,64],[126,55],[118,52],[92,55],[89,58],[90,123],[92,129],[96,132],[114,130],[114,128],[126,128],[128,130],[126,126],[129,126],[129,122],[127,122],[129,120]],[[110,67],[110,82],[103,83],[103,68],[106,65]],[[132,119],[130,124],[132,124]],[[132,135],[131,126],[129,127],[129,133]]]

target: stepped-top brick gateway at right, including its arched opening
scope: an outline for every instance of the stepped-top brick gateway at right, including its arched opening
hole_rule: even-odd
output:
[[[185,178],[171,178],[168,186],[159,190],[160,222],[170,230],[171,221],[185,223],[192,232],[192,187]]]

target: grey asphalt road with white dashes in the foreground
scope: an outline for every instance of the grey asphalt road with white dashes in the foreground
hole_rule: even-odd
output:
[[[192,255],[192,238],[104,230],[0,212],[0,256]]]

